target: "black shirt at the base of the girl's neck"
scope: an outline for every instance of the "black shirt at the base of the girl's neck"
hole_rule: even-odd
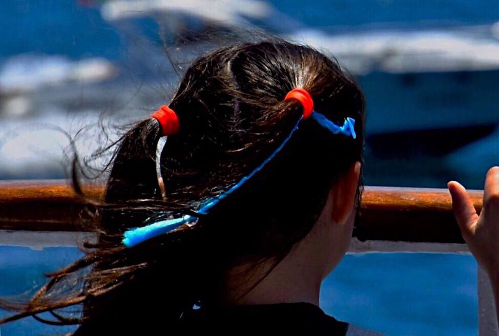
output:
[[[344,336],[348,324],[337,321],[310,303],[238,305],[205,311],[185,312],[181,318],[185,332],[215,334],[297,334]]]

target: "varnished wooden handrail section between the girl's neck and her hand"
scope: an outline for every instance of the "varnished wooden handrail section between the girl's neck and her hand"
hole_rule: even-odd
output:
[[[483,191],[468,193],[480,213]],[[360,240],[464,243],[447,189],[366,187],[354,235]]]

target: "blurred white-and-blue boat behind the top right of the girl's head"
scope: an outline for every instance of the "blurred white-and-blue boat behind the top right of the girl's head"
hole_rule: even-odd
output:
[[[203,0],[111,0],[101,11],[117,21],[153,16],[173,36],[199,36],[202,31],[196,27],[240,31],[259,25],[323,50],[364,88],[370,112],[367,134],[375,148],[386,148],[393,140],[406,146],[425,142],[415,151],[441,155],[489,135],[499,124],[499,23],[327,33],[262,1],[226,0],[213,6],[208,11]],[[429,138],[428,132],[433,132]],[[420,141],[407,141],[408,136]],[[441,144],[440,151],[432,143]]]

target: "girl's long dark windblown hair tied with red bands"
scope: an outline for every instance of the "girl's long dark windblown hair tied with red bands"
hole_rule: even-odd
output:
[[[195,226],[133,248],[122,245],[128,228],[190,214],[260,165],[303,113],[297,101],[284,101],[294,88],[307,90],[315,110],[331,121],[354,118],[357,138],[304,120],[261,172]],[[169,106],[181,126],[161,153],[166,197],[155,167],[161,132],[148,118],[119,142],[104,202],[97,205],[98,242],[87,243],[84,257],[49,275],[4,322],[33,316],[79,324],[75,335],[174,330],[193,305],[223,300],[229,270],[264,261],[277,265],[310,232],[334,183],[363,159],[363,93],[335,60],[307,46],[266,39],[207,53],[186,71]],[[362,182],[358,199],[361,191]],[[262,278],[246,280],[250,290]],[[60,312],[80,304],[78,316]],[[44,311],[54,320],[37,316]]]

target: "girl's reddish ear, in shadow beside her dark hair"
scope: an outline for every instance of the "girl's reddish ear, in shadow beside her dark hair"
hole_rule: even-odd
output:
[[[340,176],[336,184],[331,188],[331,215],[332,220],[338,224],[344,224],[354,211],[360,169],[361,163],[355,162],[350,166],[348,172],[345,175]]]

